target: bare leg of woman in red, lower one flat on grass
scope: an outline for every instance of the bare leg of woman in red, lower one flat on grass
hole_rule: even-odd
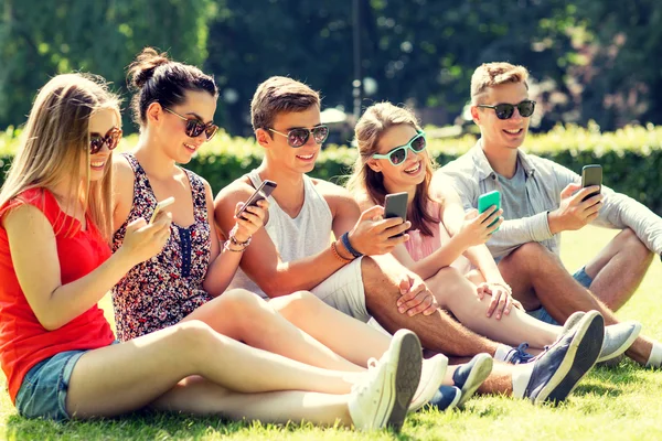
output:
[[[285,423],[311,421],[332,426],[340,421],[350,426],[346,395],[305,392],[299,390],[238,394],[201,377],[189,377],[159,397],[157,410],[195,415],[221,415],[232,420],[258,420]]]

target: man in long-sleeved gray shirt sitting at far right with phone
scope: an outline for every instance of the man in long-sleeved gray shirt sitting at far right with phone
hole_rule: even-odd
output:
[[[438,171],[434,185],[450,178],[466,209],[476,207],[481,194],[501,192],[505,220],[487,245],[531,315],[554,324],[576,311],[597,310],[606,324],[617,324],[611,310],[634,293],[651,250],[662,252],[662,219],[605,185],[581,189],[573,171],[520,149],[535,109],[527,76],[524,67],[509,63],[476,69],[471,116],[481,139]],[[572,276],[558,258],[560,232],[589,223],[622,232]],[[626,354],[641,365],[662,366],[662,345],[643,335]]]

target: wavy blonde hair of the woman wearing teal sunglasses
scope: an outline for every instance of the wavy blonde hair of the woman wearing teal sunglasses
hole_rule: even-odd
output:
[[[367,165],[374,153],[378,152],[377,144],[386,130],[394,126],[408,125],[416,131],[423,131],[416,116],[409,109],[394,106],[391,103],[378,103],[370,106],[356,122],[354,136],[359,149],[359,158],[354,163],[352,175],[346,187],[354,195],[365,195],[375,204],[384,204],[386,189],[384,187],[384,175],[375,172]],[[428,213],[428,204],[435,202],[430,197],[429,186],[435,171],[434,160],[427,155],[425,161],[425,179],[416,187],[416,195],[412,208],[407,214],[412,223],[412,229],[419,229],[421,234],[431,236],[433,230],[428,223],[438,223],[439,219]]]

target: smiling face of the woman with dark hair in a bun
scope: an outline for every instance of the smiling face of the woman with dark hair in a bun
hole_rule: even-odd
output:
[[[216,111],[216,98],[207,92],[186,90],[184,101],[166,110],[158,103],[148,109],[150,130],[153,130],[158,142],[166,154],[180,164],[191,161],[193,153],[206,141],[203,131],[200,136],[191,138],[186,135],[186,121],[174,115],[177,112],[186,119],[197,119],[204,123],[211,122]]]

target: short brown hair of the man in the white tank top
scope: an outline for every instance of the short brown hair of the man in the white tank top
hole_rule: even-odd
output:
[[[320,95],[292,78],[273,76],[259,86],[250,101],[253,130],[273,128],[280,112],[305,111],[320,106]]]

